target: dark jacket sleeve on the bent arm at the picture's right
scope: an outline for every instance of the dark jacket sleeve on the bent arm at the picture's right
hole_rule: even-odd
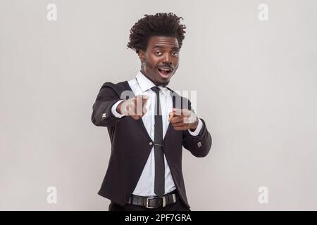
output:
[[[188,108],[192,110],[190,101],[188,101]],[[211,149],[212,139],[205,121],[201,118],[199,119],[203,123],[201,131],[199,131],[197,136],[190,135],[188,130],[182,131],[182,146],[196,157],[205,157]]]

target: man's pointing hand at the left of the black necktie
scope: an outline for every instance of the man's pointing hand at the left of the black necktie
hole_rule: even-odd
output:
[[[147,113],[147,100],[149,96],[138,95],[128,100],[120,102],[116,110],[121,115],[131,116],[135,120],[139,120],[145,113]]]

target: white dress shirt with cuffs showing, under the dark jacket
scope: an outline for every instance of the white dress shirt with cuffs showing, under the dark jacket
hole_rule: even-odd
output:
[[[152,140],[154,140],[154,108],[156,102],[156,93],[151,90],[151,87],[156,86],[151,80],[145,77],[142,72],[138,72],[135,79],[131,79],[128,81],[130,88],[132,89],[135,96],[142,94],[149,96],[147,100],[147,113],[145,113],[142,117],[144,127],[147,129],[149,136]],[[162,112],[162,122],[163,122],[163,139],[166,134],[166,129],[168,128],[168,113],[173,110],[173,100],[172,100],[172,92],[168,90],[166,87],[159,86],[160,91],[160,103],[161,103],[161,112]],[[118,104],[124,100],[120,100],[116,102],[111,108],[111,113],[115,117],[123,117],[120,113],[117,112],[116,108]],[[202,122],[199,119],[197,129],[195,131],[189,131],[189,134],[192,136],[197,136],[199,131],[202,128]],[[168,162],[166,161],[166,157],[164,155],[165,162],[165,194],[170,191],[175,190],[175,184],[170,174],[170,167],[168,167]],[[134,195],[139,196],[155,196],[154,193],[154,176],[155,176],[155,160],[154,160],[154,146],[151,149],[151,153],[149,154],[149,158],[147,159],[147,163],[144,166],[143,172],[139,177],[139,181],[137,182],[137,186],[133,191]]]

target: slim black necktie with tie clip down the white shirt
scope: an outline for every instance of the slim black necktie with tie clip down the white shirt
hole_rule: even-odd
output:
[[[165,165],[163,155],[163,123],[160,106],[160,89],[157,86],[151,88],[156,93],[155,104],[155,124],[154,124],[154,157],[155,157],[155,179],[154,193],[158,196],[163,196],[165,193]]]

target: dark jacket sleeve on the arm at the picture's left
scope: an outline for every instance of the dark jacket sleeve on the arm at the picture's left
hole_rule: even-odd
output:
[[[114,85],[111,82],[104,83],[92,106],[92,123],[98,127],[112,127],[125,117],[118,118],[111,113],[112,106],[120,100]]]

